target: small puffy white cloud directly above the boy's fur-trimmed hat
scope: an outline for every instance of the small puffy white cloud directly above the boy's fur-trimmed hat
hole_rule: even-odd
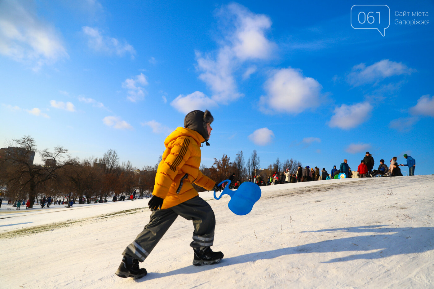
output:
[[[204,95],[203,92],[195,91],[189,95],[178,95],[171,103],[171,106],[176,108],[179,112],[188,113],[195,109],[205,111],[211,107],[217,106],[217,103]]]

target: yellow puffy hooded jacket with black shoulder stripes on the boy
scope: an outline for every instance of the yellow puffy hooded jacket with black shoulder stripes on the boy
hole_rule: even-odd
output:
[[[189,128],[178,127],[164,141],[166,147],[158,164],[153,195],[164,199],[167,209],[197,196],[192,183],[211,190],[215,182],[202,174],[201,143],[205,139]]]

